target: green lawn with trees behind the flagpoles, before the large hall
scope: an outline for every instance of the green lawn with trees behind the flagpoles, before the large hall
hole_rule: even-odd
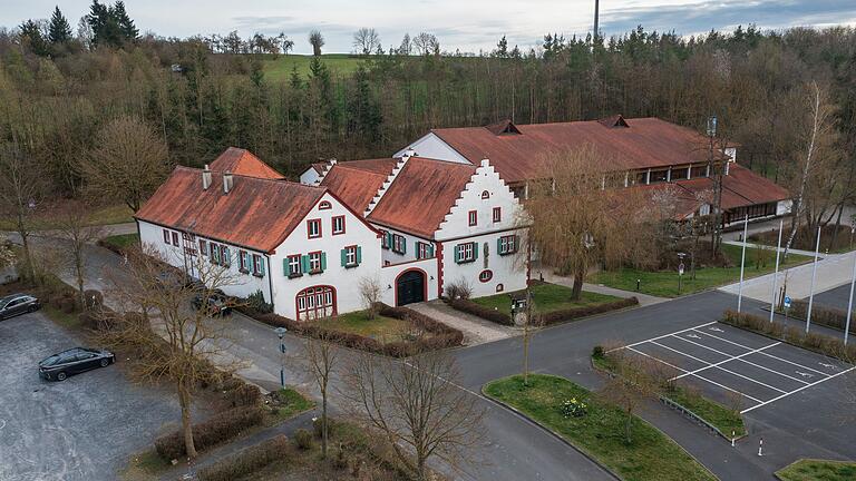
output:
[[[731,258],[733,267],[706,267],[696,269],[696,279],[690,278],[689,267],[681,279],[681,292],[678,292],[678,273],[673,271],[648,272],[634,268],[622,268],[619,271],[604,271],[593,274],[587,282],[592,284],[603,284],[610,287],[623,291],[636,291],[636,279],[641,279],[639,292],[659,297],[677,297],[683,294],[690,294],[731,284],[740,281],[740,255],[741,246],[723,244],[722,252]],[[772,273],[776,268],[775,253],[774,259],[766,267],[756,268],[755,248],[746,249],[746,272],[745,278],[757,277],[759,275]],[[788,261],[782,262],[779,269],[792,267],[795,265],[810,262],[811,257],[789,254]],[[689,264],[688,264],[689,265]]]

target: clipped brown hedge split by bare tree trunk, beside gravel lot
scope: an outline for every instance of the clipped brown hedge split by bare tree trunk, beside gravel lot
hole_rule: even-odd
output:
[[[193,442],[196,451],[204,451],[223,441],[231,440],[242,431],[259,425],[264,419],[261,406],[235,408],[216,413],[193,425]],[[155,440],[155,450],[166,461],[184,458],[184,432],[179,429]]]

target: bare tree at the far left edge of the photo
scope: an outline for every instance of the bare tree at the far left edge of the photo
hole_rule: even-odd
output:
[[[26,276],[36,278],[30,251],[31,217],[47,190],[40,164],[29,161],[13,144],[0,145],[0,210],[14,219],[21,237]]]

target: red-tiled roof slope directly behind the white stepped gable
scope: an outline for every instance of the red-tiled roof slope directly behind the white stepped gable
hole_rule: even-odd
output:
[[[368,219],[431,238],[475,173],[471,165],[411,157]]]

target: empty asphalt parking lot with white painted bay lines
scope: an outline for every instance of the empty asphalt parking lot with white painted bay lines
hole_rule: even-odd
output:
[[[674,370],[673,380],[699,385],[741,413],[769,409],[856,367],[720,323],[707,323],[626,345]],[[856,374],[856,373],[854,373]],[[834,387],[830,387],[834,389]]]

